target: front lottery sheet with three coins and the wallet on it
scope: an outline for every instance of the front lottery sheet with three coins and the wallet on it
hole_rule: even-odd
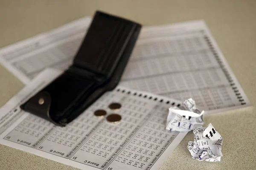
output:
[[[119,86],[66,127],[20,110],[60,73],[46,69],[0,109],[0,144],[84,170],[157,170],[186,135],[165,129],[168,108],[179,101]],[[116,102],[121,108],[111,110]],[[108,122],[93,114],[99,109],[122,119]]]

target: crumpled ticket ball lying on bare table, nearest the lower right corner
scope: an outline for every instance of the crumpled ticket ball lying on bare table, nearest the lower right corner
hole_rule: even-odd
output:
[[[210,123],[207,128],[194,130],[194,142],[189,141],[188,149],[193,159],[198,161],[221,161],[222,136]]]

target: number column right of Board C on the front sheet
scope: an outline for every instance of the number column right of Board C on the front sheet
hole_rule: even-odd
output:
[[[158,108],[116,157],[111,166],[122,167],[124,170],[129,170],[130,166],[133,169],[135,167],[137,169],[151,167],[154,164],[153,160],[158,158],[156,155],[161,153],[160,150],[166,149],[170,139],[177,135],[177,133],[165,130],[166,113],[168,113],[168,108]]]

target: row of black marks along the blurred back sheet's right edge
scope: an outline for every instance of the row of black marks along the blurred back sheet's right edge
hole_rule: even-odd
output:
[[[206,35],[204,35],[204,40],[209,45],[209,48],[211,49],[212,54],[214,55],[218,64],[221,66],[221,69],[224,72],[225,76],[227,77],[227,80],[230,82],[230,85],[232,86],[232,89],[233,89],[234,93],[236,94],[237,99],[239,100],[239,102],[241,102],[241,105],[245,105],[246,102],[244,102],[244,99],[241,96],[241,93],[239,93],[239,90],[236,87],[236,84],[234,83],[233,79],[231,78],[231,75],[228,73],[227,68],[224,67],[224,64],[223,64],[221,58],[218,56],[218,53],[215,51],[215,49],[212,45],[212,42],[210,42],[209,38]]]

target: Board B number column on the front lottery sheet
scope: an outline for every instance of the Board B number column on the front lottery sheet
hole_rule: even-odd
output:
[[[102,119],[94,116],[93,113],[98,108],[108,107],[110,99],[106,96],[93,103],[90,108],[66,127],[56,127],[46,140],[38,145],[37,149],[51,152],[64,158],[70,158],[75,150],[81,146],[81,143],[87,139],[93,128],[101,124]]]

